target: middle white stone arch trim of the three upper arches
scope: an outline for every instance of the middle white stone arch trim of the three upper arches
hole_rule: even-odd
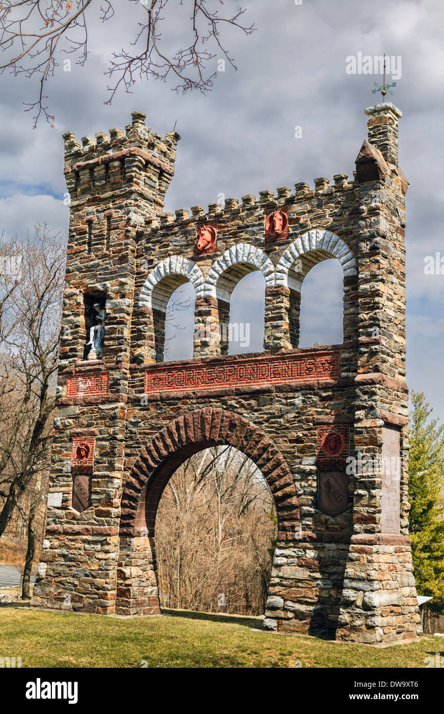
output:
[[[211,266],[203,286],[203,295],[229,301],[238,281],[247,273],[256,270],[263,274],[266,288],[274,288],[275,268],[266,253],[251,243],[237,243],[236,246],[228,248]]]

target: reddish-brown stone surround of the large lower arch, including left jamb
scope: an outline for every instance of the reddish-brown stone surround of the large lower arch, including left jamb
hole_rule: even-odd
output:
[[[126,480],[116,613],[160,613],[155,524],[163,489],[183,461],[204,448],[223,444],[245,453],[261,470],[276,506],[278,540],[293,540],[300,528],[298,498],[288,465],[273,441],[234,412],[211,407],[188,412],[151,438]]]

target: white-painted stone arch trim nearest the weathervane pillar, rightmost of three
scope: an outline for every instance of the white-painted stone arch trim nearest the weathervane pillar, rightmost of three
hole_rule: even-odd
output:
[[[312,255],[306,256],[306,253]],[[303,278],[310,268],[328,258],[338,258],[344,276],[357,274],[353,253],[342,238],[331,231],[319,228],[307,231],[303,236],[296,238],[296,241],[293,241],[281,256],[276,266],[276,287],[284,286],[301,291]],[[302,263],[301,269],[295,271],[293,266],[298,260]]]

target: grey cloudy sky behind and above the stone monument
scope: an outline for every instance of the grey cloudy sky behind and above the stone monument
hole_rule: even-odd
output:
[[[218,6],[216,0],[208,3]],[[168,211],[207,206],[221,193],[258,196],[264,189],[293,188],[298,181],[313,185],[317,176],[331,181],[333,174],[351,176],[366,138],[364,109],[375,104],[372,89],[379,78],[347,74],[346,58],[359,52],[400,56],[401,76],[388,99],[403,111],[400,165],[410,181],[408,384],[424,391],[436,416],[444,418],[444,275],[424,272],[426,256],[440,251],[444,256],[442,0],[244,0],[245,24],[254,22],[256,32],[246,37],[228,28],[222,35],[238,71],[227,64],[205,96],[183,96],[171,85],[150,81],[133,87],[130,95],[120,92],[111,106],[104,104],[103,72],[113,49],[133,39],[144,9],[118,0],[116,18],[102,25],[94,5],[99,7],[99,0],[91,4],[89,61],[84,68],[73,64],[71,72],[61,65],[47,84],[54,128],[41,121],[33,129],[31,115],[23,111],[36,84],[7,74],[0,78],[0,230],[5,236],[24,236],[39,221],[66,235],[61,134],[70,129],[80,138],[123,128],[133,109],[145,111],[147,125],[163,134],[177,121],[181,141],[166,196]],[[167,47],[177,47],[188,34],[189,5],[189,0],[183,5],[170,0],[166,6]],[[237,3],[226,0],[224,6],[228,11]],[[220,57],[216,49],[215,69]],[[296,126],[302,129],[299,139]],[[334,263],[317,266],[304,283],[301,346],[340,341],[341,279]],[[258,348],[261,338],[261,279],[247,276],[233,296],[231,319],[251,321],[248,351]],[[171,341],[172,354],[173,343],[183,344],[184,335]]]

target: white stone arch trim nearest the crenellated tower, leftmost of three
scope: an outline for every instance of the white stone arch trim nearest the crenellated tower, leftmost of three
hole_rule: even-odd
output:
[[[166,310],[171,294],[190,282],[196,292],[196,300],[203,297],[203,273],[196,263],[183,256],[169,256],[158,263],[149,273],[138,300],[139,308]]]

